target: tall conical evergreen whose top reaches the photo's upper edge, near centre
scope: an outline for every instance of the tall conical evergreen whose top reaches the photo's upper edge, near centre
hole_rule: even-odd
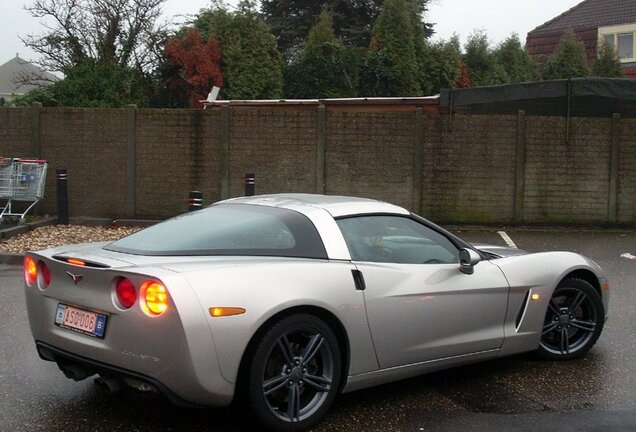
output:
[[[373,27],[360,91],[363,96],[420,96],[421,63],[410,0],[386,0]]]

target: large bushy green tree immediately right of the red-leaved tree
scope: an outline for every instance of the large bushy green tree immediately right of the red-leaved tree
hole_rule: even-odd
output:
[[[235,12],[218,5],[216,9],[202,10],[193,24],[203,37],[213,36],[219,41],[223,97],[272,99],[282,96],[281,55],[254,1],[242,0]]]

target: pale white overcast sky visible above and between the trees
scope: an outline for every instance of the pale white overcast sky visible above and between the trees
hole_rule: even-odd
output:
[[[501,42],[513,32],[518,33],[523,41],[528,31],[580,1],[431,0],[426,20],[435,23],[435,38],[447,39],[457,33],[464,42],[473,30],[483,29],[492,44]],[[0,64],[9,61],[16,53],[27,60],[37,58],[18,37],[42,30],[38,20],[24,10],[24,6],[31,3],[31,0],[0,0]],[[166,19],[196,14],[209,4],[209,0],[167,0],[164,14]]]

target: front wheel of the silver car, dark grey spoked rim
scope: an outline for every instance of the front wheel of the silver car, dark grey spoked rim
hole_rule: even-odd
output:
[[[604,323],[603,301],[594,287],[565,279],[550,298],[537,354],[548,360],[578,358],[594,346]]]

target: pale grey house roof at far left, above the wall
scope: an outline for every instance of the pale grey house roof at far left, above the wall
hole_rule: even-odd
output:
[[[25,79],[28,79],[28,84],[24,84]],[[18,55],[0,65],[0,95],[2,96],[24,94],[58,80],[59,78],[55,75],[21,59]]]

